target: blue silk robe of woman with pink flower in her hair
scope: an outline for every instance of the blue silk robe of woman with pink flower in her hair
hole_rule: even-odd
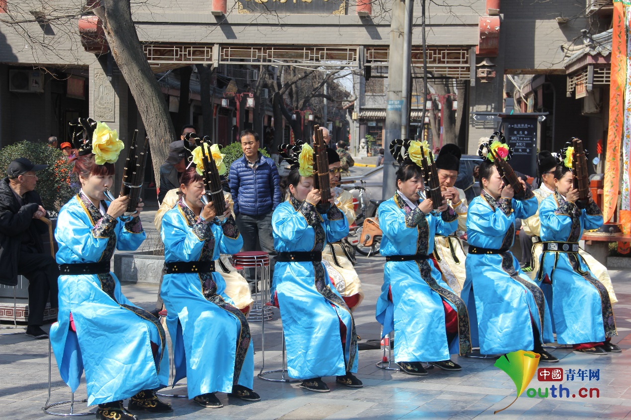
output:
[[[533,195],[528,200],[494,200],[482,191],[469,205],[467,241],[470,246],[506,249],[500,254],[467,255],[461,297],[469,309],[471,341],[480,353],[501,355],[534,348],[531,317],[542,343],[554,341],[550,312],[543,292],[519,268],[508,251],[515,239],[515,218],[526,219],[537,211]]]

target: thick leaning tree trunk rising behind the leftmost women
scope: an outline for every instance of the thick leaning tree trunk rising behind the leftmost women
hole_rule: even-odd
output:
[[[103,21],[107,43],[143,118],[151,145],[156,188],[160,188],[160,166],[167,159],[168,145],[176,137],[167,101],[138,40],[129,1],[102,0],[101,4],[94,12]]]

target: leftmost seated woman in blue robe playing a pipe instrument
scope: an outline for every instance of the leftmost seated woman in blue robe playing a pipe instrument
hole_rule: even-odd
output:
[[[110,272],[115,249],[134,251],[146,237],[138,217],[143,203],[133,219],[120,219],[129,198],[105,200],[114,164],[96,164],[89,140],[74,161],[81,190],[61,208],[55,230],[59,321],[50,328],[50,343],[73,392],[85,370],[97,419],[136,419],[122,406],[129,397],[130,410],[170,412],[153,391],[168,382],[165,332],[156,317],[127,300]]]

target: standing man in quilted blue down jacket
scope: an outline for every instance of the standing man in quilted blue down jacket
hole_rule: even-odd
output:
[[[272,213],[280,204],[280,177],[276,164],[259,153],[259,135],[251,130],[240,133],[244,156],[230,165],[228,179],[234,201],[237,226],[243,236],[243,251],[256,250],[269,254],[269,278],[274,270]]]

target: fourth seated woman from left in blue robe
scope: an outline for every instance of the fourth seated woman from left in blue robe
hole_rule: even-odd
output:
[[[408,150],[413,153],[418,144],[411,142]],[[461,370],[450,355],[471,352],[469,317],[464,302],[431,259],[435,234],[455,232],[457,214],[445,200],[433,210],[432,200],[422,193],[423,173],[411,160],[414,155],[395,155],[401,161],[397,191],[379,206],[386,266],[377,321],[383,326],[382,336],[394,330],[394,361],[403,372],[427,375],[422,361],[443,370]],[[445,191],[443,198],[451,197],[447,195]]]

